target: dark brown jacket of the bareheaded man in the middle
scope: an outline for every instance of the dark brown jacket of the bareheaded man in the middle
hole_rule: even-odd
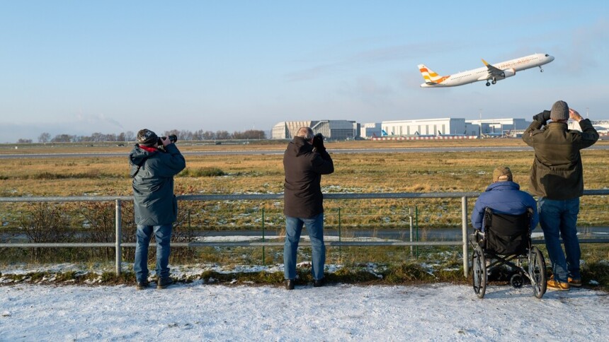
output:
[[[285,183],[283,213],[294,218],[312,218],[324,212],[321,175],[334,172],[334,163],[324,151],[313,151],[305,138],[296,136],[283,154]]]

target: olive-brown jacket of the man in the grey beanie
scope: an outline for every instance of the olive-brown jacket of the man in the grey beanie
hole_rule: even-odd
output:
[[[596,143],[596,129],[588,119],[579,122],[581,131],[569,130],[564,122],[550,122],[545,129],[541,126],[533,120],[523,134],[523,141],[535,148],[531,192],[553,200],[583,195],[584,167],[579,151]]]

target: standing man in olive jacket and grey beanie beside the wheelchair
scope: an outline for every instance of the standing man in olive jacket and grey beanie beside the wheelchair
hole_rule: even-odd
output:
[[[579,122],[581,131],[569,130],[569,118]],[[549,119],[552,122],[541,129]],[[581,286],[576,222],[579,197],[584,194],[584,167],[579,151],[597,140],[598,133],[590,120],[569,109],[564,101],[555,102],[551,111],[535,115],[523,134],[523,141],[535,148],[530,190],[539,197],[540,225],[554,273],[547,287],[553,290]],[[559,237],[564,242],[564,252]]]

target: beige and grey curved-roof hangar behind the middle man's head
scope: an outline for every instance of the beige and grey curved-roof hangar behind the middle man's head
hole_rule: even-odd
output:
[[[271,138],[291,139],[302,126],[309,126],[315,134],[321,133],[331,140],[351,140],[359,132],[359,124],[348,120],[286,121],[273,126]]]

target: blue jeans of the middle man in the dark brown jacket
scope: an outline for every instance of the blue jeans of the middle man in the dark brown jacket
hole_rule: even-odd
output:
[[[296,251],[300,242],[302,225],[307,226],[313,261],[311,273],[314,280],[324,278],[324,264],[326,262],[326,246],[324,245],[324,213],[312,218],[292,218],[285,216],[285,244],[283,245],[283,275],[285,279],[296,278]]]

